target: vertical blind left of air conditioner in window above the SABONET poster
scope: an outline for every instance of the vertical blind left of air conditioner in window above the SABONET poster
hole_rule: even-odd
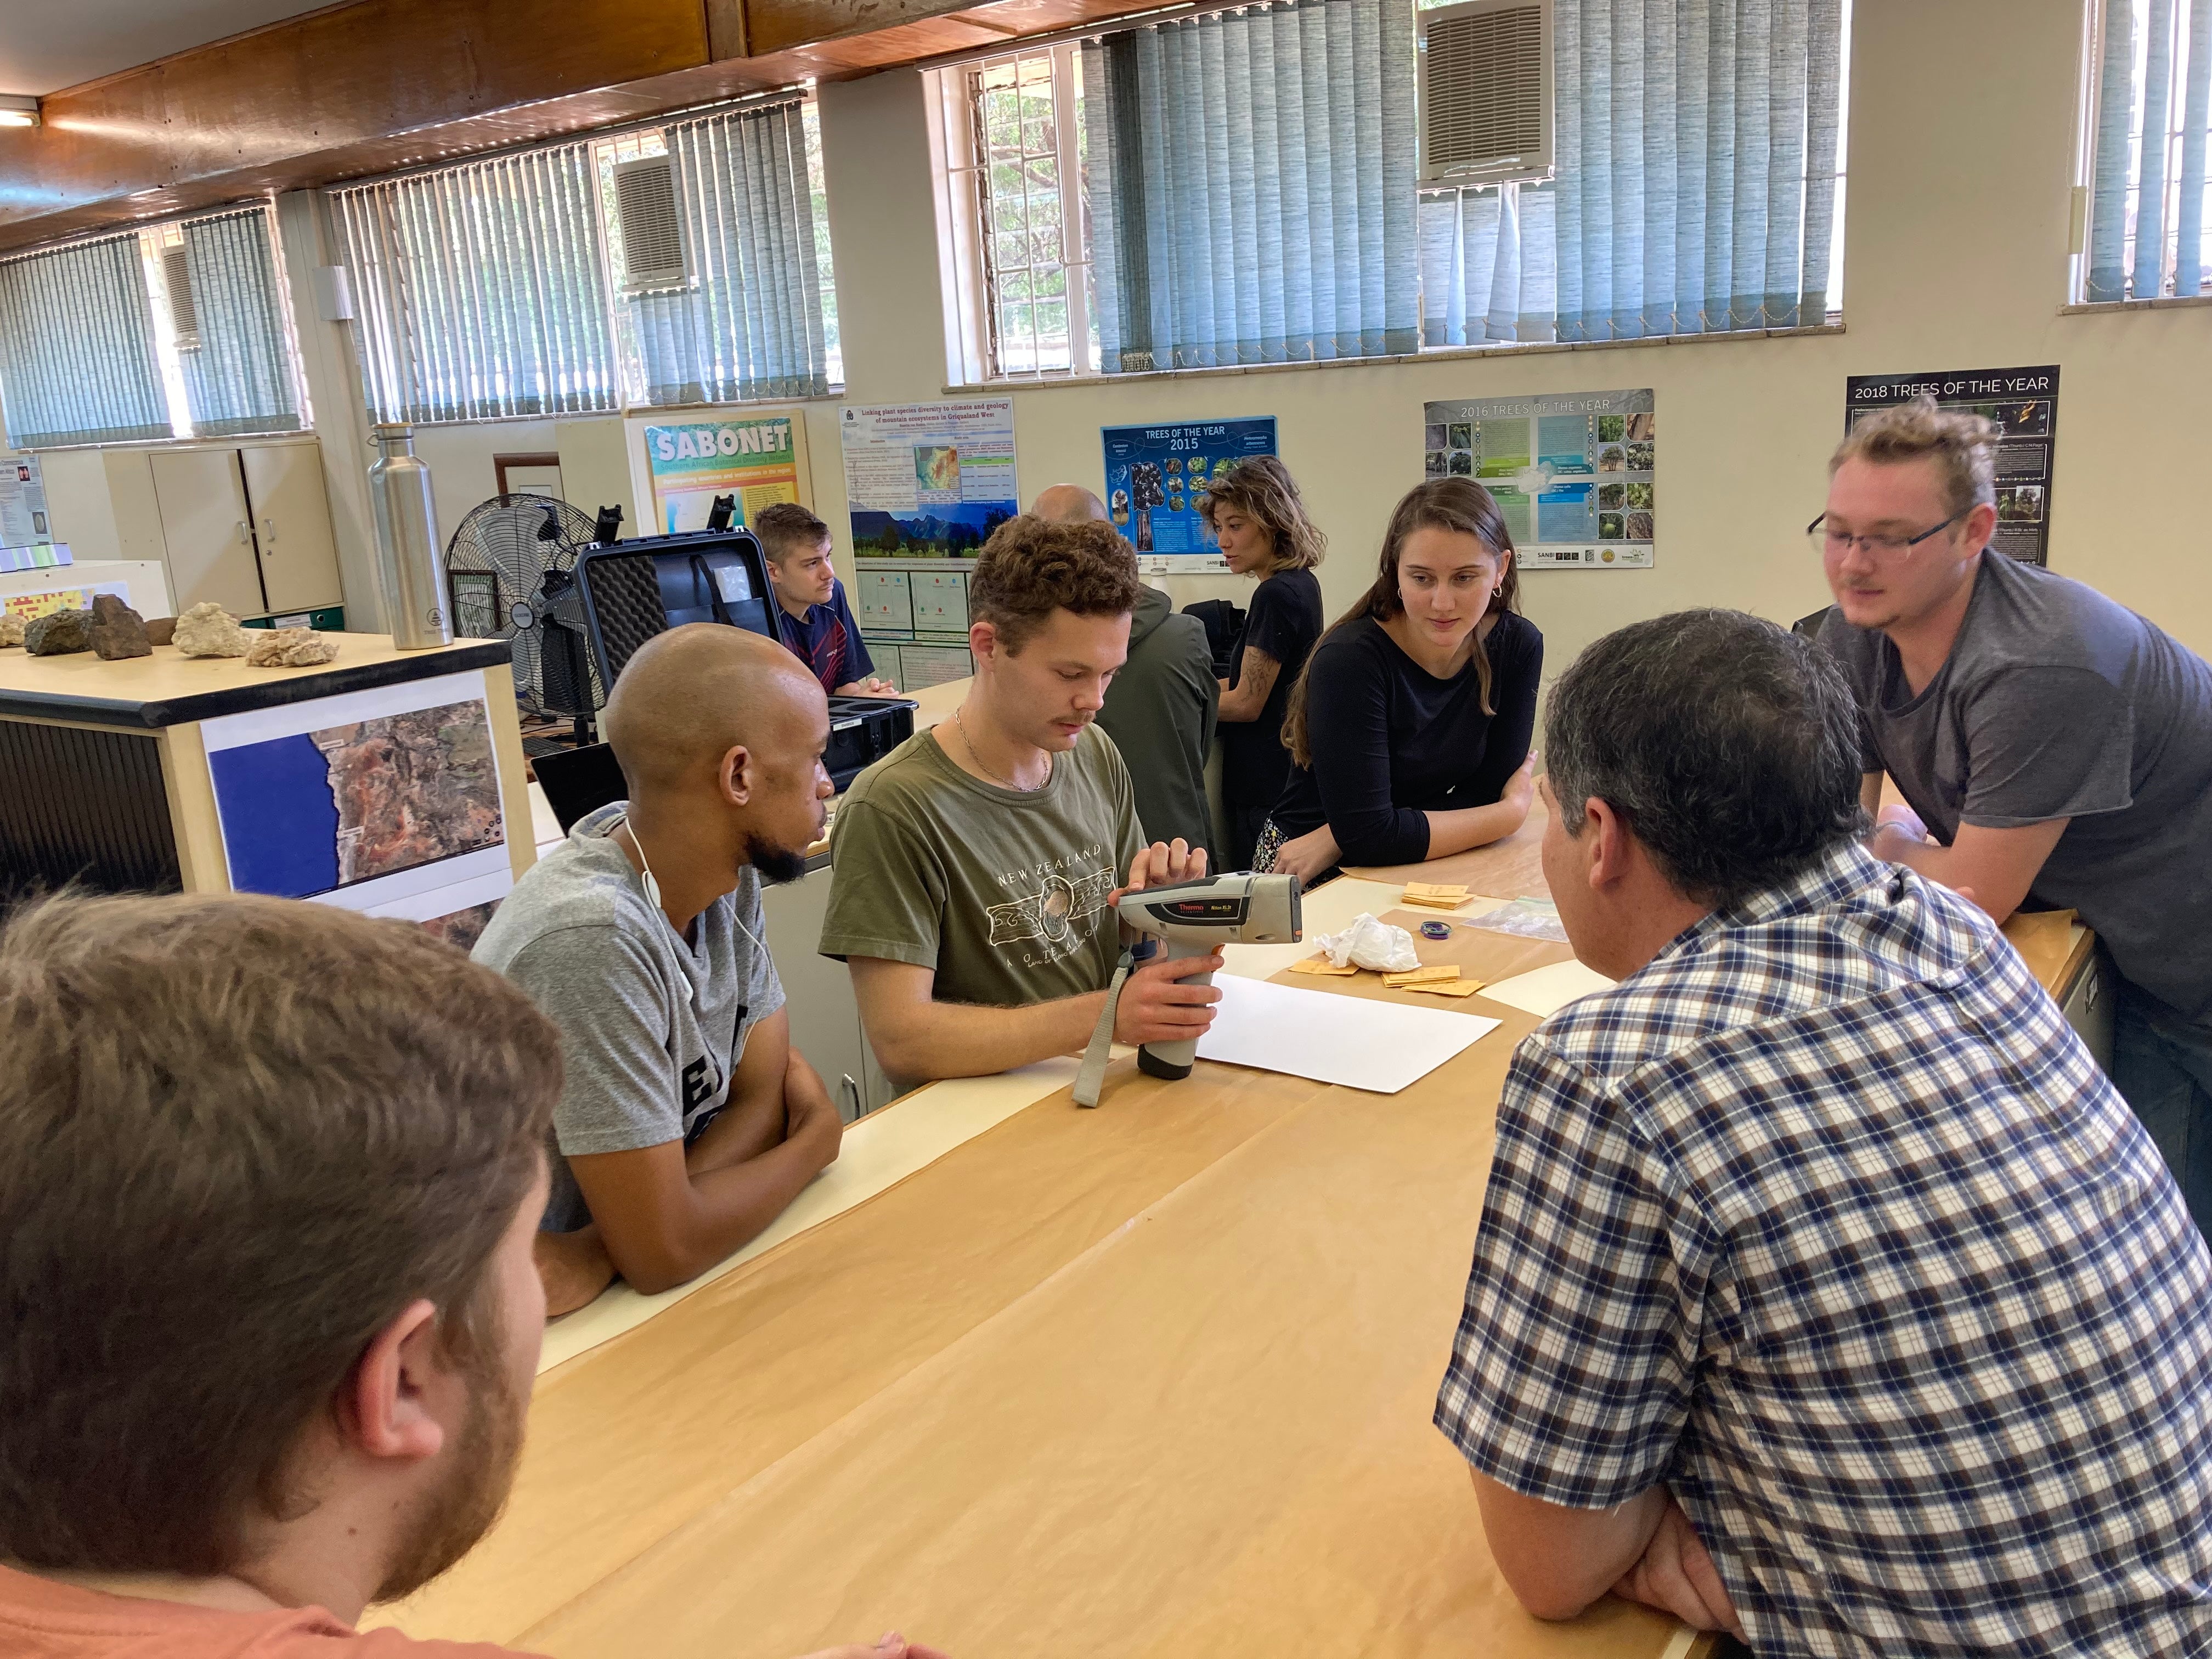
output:
[[[622,407],[591,144],[332,195],[378,420]]]

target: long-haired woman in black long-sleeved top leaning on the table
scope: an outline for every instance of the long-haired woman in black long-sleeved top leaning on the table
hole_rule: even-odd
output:
[[[1398,502],[1376,584],[1292,688],[1292,772],[1256,869],[1312,885],[1340,863],[1411,865],[1522,827],[1544,635],[1517,595],[1482,484],[1433,478]]]

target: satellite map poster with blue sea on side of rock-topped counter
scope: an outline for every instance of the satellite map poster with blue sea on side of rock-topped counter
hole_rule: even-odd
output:
[[[201,723],[237,891],[471,945],[513,887],[482,672]]]

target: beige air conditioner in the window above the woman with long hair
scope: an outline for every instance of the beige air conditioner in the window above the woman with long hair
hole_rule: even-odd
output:
[[[1551,175],[1551,2],[1469,0],[1420,20],[1420,181]]]

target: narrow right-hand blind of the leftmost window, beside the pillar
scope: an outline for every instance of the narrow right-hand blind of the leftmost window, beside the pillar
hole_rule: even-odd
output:
[[[268,208],[190,219],[184,270],[197,341],[179,345],[192,436],[299,431],[290,330],[270,252]]]

